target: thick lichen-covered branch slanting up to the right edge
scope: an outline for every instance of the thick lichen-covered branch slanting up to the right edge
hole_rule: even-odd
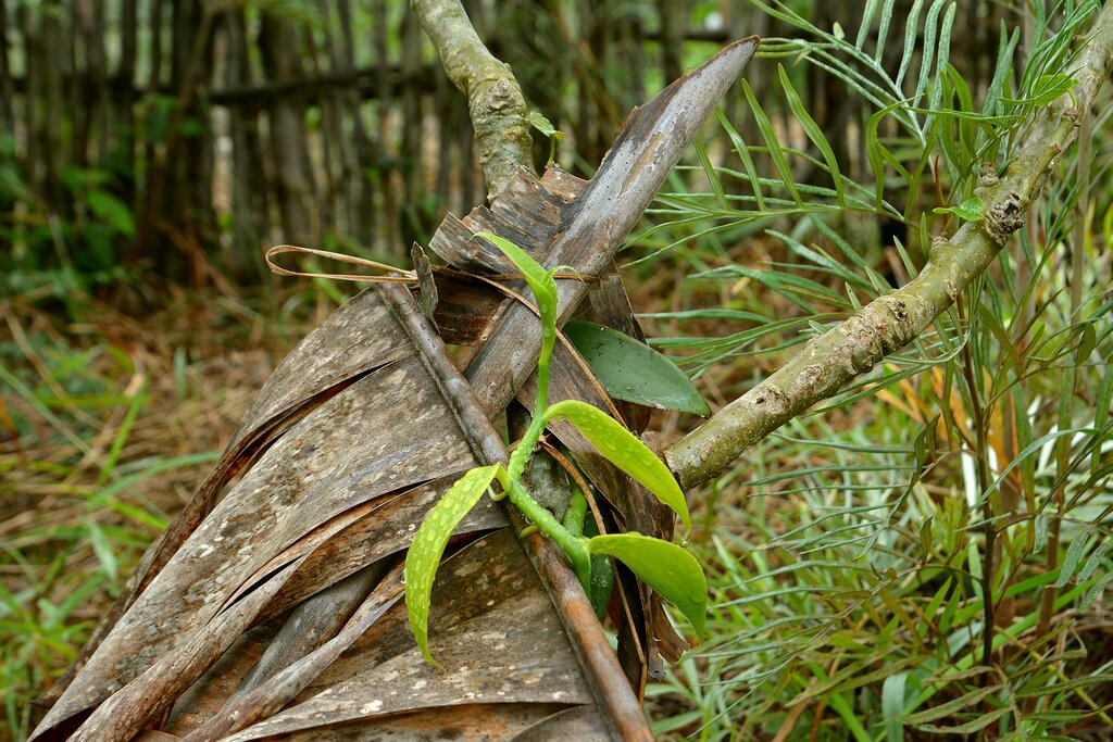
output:
[[[983,180],[977,191],[985,204],[983,218],[935,246],[914,280],[808,342],[781,369],[669,446],[666,461],[682,487],[717,476],[746,448],[910,343],[954,304],[1024,225],[1024,215],[1109,77],[1111,56],[1113,2],[1102,9],[1078,55],[1073,72],[1077,87],[1036,112],[1003,176]]]

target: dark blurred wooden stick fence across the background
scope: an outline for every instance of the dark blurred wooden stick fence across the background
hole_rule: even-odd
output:
[[[464,4],[585,176],[632,106],[778,30],[731,0]],[[760,95],[768,69],[748,76]],[[22,266],[253,281],[278,243],[401,259],[485,194],[464,97],[403,0],[0,0],[0,125]]]

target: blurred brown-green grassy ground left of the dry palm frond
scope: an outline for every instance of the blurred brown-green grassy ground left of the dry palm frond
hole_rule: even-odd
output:
[[[144,321],[89,297],[76,315],[37,295],[0,300],[0,729],[12,739],[315,321],[315,299],[296,295],[278,297],[280,321],[259,300],[168,296]]]

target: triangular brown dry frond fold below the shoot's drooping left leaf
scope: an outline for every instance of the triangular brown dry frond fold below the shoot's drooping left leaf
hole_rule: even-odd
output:
[[[476,580],[477,571],[482,580]],[[321,677],[324,689],[308,687],[307,698],[290,709],[227,739],[254,740],[484,701],[592,702],[556,614],[509,531],[475,542],[437,574],[431,650],[451,672],[422,661],[403,605],[390,613],[393,620],[352,624],[337,637],[348,641],[352,651],[328,663],[327,676]],[[362,637],[355,645],[349,641],[354,636]],[[309,660],[303,662],[308,665]]]

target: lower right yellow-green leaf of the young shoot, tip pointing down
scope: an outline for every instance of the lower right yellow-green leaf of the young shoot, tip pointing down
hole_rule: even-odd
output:
[[[588,542],[588,551],[609,554],[630,567],[661,597],[680,609],[702,641],[707,577],[703,567],[687,550],[640,533],[617,533],[595,536]]]

